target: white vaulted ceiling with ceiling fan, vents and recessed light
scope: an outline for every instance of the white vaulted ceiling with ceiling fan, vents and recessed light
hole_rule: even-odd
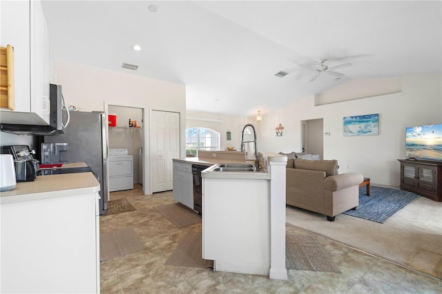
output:
[[[56,60],[185,84],[187,110],[254,115],[352,79],[442,72],[441,4],[52,0],[43,8]],[[352,66],[336,69],[345,74],[338,80],[310,81],[321,59]],[[281,70],[288,75],[276,77]]]

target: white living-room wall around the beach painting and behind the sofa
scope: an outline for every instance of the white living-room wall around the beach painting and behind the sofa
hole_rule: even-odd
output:
[[[405,128],[442,123],[442,75],[405,76],[401,81],[402,92],[394,94],[322,106],[314,106],[311,95],[264,113],[258,129],[260,150],[300,152],[301,121],[323,118],[324,132],[330,133],[324,137],[324,159],[338,159],[340,173],[363,173],[374,184],[399,186],[397,159],[405,158]],[[358,96],[364,97],[368,89],[359,87]],[[379,135],[343,137],[343,117],[372,113],[379,114]],[[285,127],[284,136],[275,137],[279,123]]]

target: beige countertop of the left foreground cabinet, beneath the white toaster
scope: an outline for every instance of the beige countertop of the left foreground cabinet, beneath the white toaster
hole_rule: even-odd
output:
[[[0,204],[96,193],[99,182],[93,173],[40,175],[33,182],[19,182],[13,190],[0,193]]]

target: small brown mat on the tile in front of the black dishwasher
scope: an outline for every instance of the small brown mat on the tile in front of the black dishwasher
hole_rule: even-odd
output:
[[[155,209],[164,215],[166,219],[169,219],[177,228],[192,226],[201,222],[201,216],[198,213],[180,203],[159,205],[155,206]]]

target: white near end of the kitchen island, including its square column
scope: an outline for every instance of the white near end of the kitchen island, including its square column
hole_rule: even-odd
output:
[[[258,172],[202,171],[202,257],[213,260],[214,271],[287,280],[286,162],[263,153]]]

